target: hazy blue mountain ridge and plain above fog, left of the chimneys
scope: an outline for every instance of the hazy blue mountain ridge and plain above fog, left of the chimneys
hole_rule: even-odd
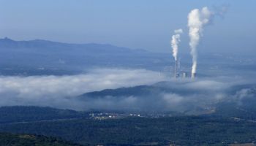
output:
[[[114,45],[77,45],[42,39],[15,41],[7,37],[0,39],[0,54],[0,74],[25,76],[81,74],[95,67],[154,70],[169,60],[165,53]]]

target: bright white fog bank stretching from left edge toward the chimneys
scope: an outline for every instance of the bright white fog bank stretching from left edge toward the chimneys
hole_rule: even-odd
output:
[[[76,109],[77,103],[72,100],[74,96],[105,88],[148,85],[161,80],[164,77],[158,72],[145,69],[94,69],[88,74],[72,76],[1,76],[0,106],[41,105]]]

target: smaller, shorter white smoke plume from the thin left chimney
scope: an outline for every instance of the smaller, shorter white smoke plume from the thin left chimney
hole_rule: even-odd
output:
[[[182,29],[176,29],[174,31],[174,35],[170,41],[170,45],[173,47],[173,57],[175,58],[175,61],[177,61],[177,55],[178,55],[178,42],[181,42],[181,34],[183,33]]]

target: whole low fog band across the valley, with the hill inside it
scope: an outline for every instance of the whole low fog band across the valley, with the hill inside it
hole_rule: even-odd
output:
[[[249,84],[253,82],[241,77],[175,80],[145,69],[93,69],[87,74],[70,76],[1,76],[0,106],[184,112],[198,107],[209,108],[222,100],[239,101],[250,96]],[[102,96],[80,96],[92,91],[137,85],[147,86],[128,88],[125,93],[113,91],[97,94]]]

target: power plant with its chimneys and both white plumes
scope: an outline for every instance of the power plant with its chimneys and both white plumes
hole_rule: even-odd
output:
[[[208,7],[202,9],[192,9],[187,16],[187,26],[189,28],[189,47],[190,54],[192,55],[192,70],[191,78],[195,79],[197,76],[197,45],[200,41],[200,37],[203,35],[203,28],[214,18],[214,12],[211,12]],[[174,77],[180,77],[181,72],[178,69],[178,44],[181,42],[181,34],[183,30],[181,28],[174,30],[174,34],[171,37],[170,45],[173,48],[173,58],[175,59],[174,65]],[[182,77],[187,77],[187,73],[183,73]]]

